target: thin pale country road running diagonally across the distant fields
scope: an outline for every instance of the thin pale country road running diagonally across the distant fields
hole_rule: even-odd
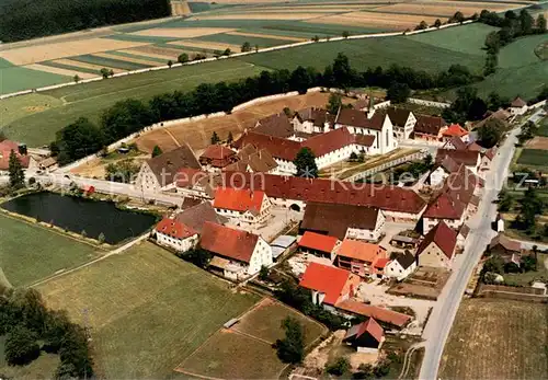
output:
[[[465,21],[465,22],[463,22],[463,25],[469,24],[471,22],[473,22],[473,21],[471,21],[471,20]],[[459,26],[459,25],[461,25],[461,24],[459,24],[459,23],[445,24],[445,25],[439,26],[439,30],[446,28],[446,27]],[[425,28],[422,31],[413,31],[413,32],[390,32],[390,33],[359,34],[359,35],[349,36],[346,39],[384,38],[384,37],[393,37],[393,36],[401,36],[401,35],[413,35],[413,34],[420,34],[420,33],[429,33],[429,32],[434,32],[437,30],[438,30],[437,27],[429,27],[429,28]],[[345,38],[343,38],[343,37],[332,37],[332,38],[327,37],[327,38],[320,38],[320,39],[318,39],[318,42],[305,41],[305,42],[299,42],[299,43],[260,48],[256,51],[253,50],[253,51],[236,53],[236,54],[232,54],[230,56],[205,58],[205,59],[193,60],[193,61],[184,62],[184,64],[173,64],[171,67],[169,67],[168,65],[164,65],[164,66],[151,67],[151,68],[146,68],[146,69],[118,72],[118,73],[113,74],[111,78],[126,77],[126,76],[132,76],[132,74],[136,74],[136,73],[149,72],[149,71],[169,70],[170,68],[176,68],[176,67],[190,66],[190,65],[198,65],[198,64],[203,64],[203,62],[210,62],[210,61],[218,60],[218,59],[228,59],[231,57],[242,57],[242,56],[247,56],[250,54],[274,51],[274,50],[287,49],[287,48],[305,46],[305,45],[310,45],[310,44],[328,43],[328,42],[342,41],[342,39],[345,39]],[[90,82],[95,82],[95,81],[100,81],[100,80],[103,80],[103,78],[102,77],[94,77],[94,78],[90,78],[90,79],[82,79],[82,80],[78,81],[78,83],[77,82],[67,82],[67,83],[48,85],[48,87],[43,87],[43,88],[38,88],[38,89],[33,89],[33,90],[12,92],[9,94],[0,95],[0,100],[12,97],[12,96],[25,95],[25,94],[30,94],[33,92],[42,92],[42,91],[47,91],[47,90],[66,88],[69,85],[90,83]]]

